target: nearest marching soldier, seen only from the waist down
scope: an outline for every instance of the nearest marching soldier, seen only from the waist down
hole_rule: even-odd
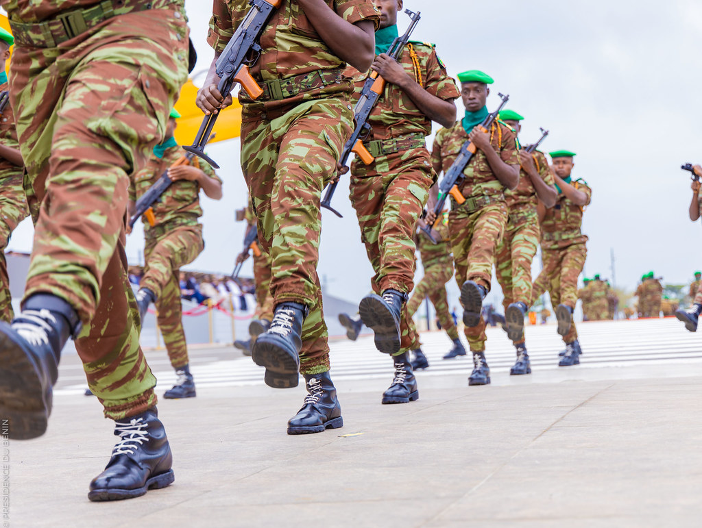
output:
[[[140,496],[168,486],[173,470],[139,346],[124,220],[130,176],[163,140],[187,79],[183,1],[1,5],[15,36],[10,95],[34,250],[22,312],[0,323],[0,417],[11,438],[44,434],[61,350],[74,337],[119,436],[88,498]]]

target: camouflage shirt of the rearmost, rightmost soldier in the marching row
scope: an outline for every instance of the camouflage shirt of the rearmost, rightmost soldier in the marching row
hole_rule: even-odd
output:
[[[585,180],[573,180],[571,185],[588,196],[585,206],[589,205],[592,189]],[[546,210],[541,222],[541,247],[557,250],[587,242],[588,237],[581,232],[584,210],[585,208],[571,202],[565,194],[559,193],[556,205]]]

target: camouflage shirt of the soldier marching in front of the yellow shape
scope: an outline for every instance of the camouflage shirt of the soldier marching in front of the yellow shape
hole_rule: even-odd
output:
[[[134,177],[137,198],[141,198],[157,182],[164,170],[176,163],[181,156],[183,156],[183,149],[180,147],[166,149],[163,158],[151,156],[146,167]],[[222,182],[208,163],[201,162],[198,158],[193,158],[191,164],[201,169],[209,177],[220,183]],[[161,199],[152,206],[156,217],[156,225],[163,225],[168,222],[197,224],[197,219],[202,216],[199,192],[200,186],[197,182],[190,182],[189,180],[173,182],[171,187],[168,187],[164,194],[161,194]],[[150,224],[144,224],[145,230],[148,231],[150,227]]]

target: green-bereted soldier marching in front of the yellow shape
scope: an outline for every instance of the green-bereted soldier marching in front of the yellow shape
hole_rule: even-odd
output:
[[[208,163],[200,163],[199,158],[193,158],[190,163],[180,163],[184,157],[183,149],[173,137],[179,117],[176,109],[171,110],[166,140],[154,147],[149,163],[134,177],[137,199],[159,180],[165,170],[168,170],[168,177],[173,181],[159,201],[152,205],[154,224],[144,222],[145,266],[136,294],[142,323],[149,304],[155,304],[168,359],[178,377],[164,398],[195,396],[183,330],[180,268],[194,261],[205,247],[202,225],[198,222],[202,216],[200,189],[208,198],[222,198],[222,180]]]

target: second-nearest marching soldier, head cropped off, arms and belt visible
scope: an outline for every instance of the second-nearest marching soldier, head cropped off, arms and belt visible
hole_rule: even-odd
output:
[[[209,115],[231,104],[217,90],[215,62],[239,27],[246,2],[215,0],[208,43],[215,58],[197,95]],[[241,165],[258,219],[258,240],[272,259],[273,320],[251,350],[265,383],[309,393],[289,434],[343,425],[329,376],[329,344],[317,276],[324,185],[352,132],[353,85],[346,63],[365,70],[373,58],[378,12],[370,0],[282,0],[260,36],[251,75],[263,95],[242,90]]]

